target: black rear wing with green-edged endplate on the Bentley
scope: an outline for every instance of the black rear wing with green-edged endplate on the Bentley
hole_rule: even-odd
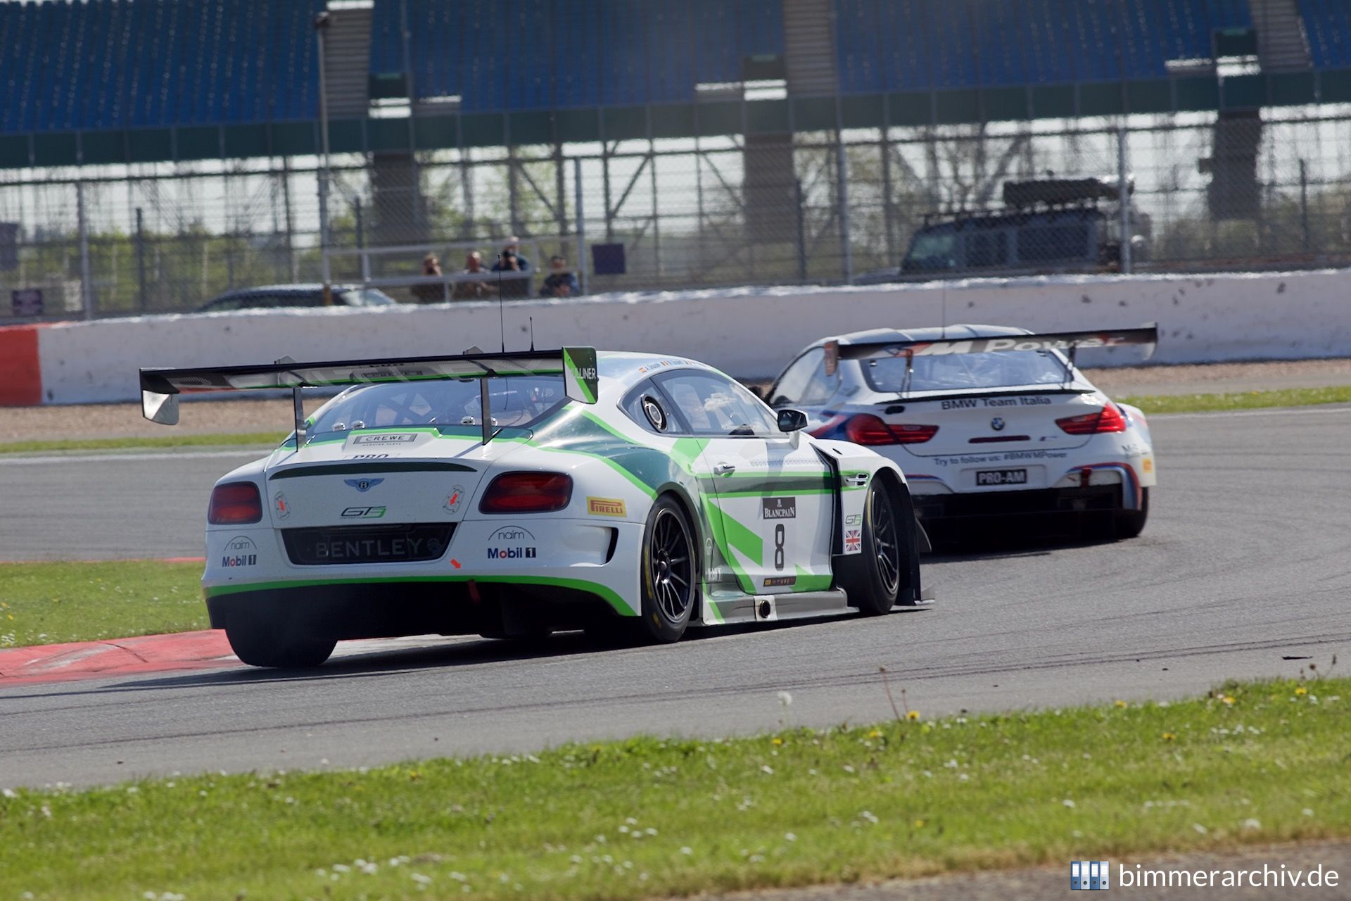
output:
[[[432,378],[478,378],[482,398],[484,443],[492,440],[489,378],[562,376],[570,400],[594,404],[598,390],[594,347],[528,350],[485,354],[471,350],[457,357],[397,357],[297,363],[290,358],[258,366],[201,369],[142,369],[141,412],[153,423],[178,423],[178,396],[199,392],[290,390],[296,413],[296,446],[305,439],[301,390],[335,385],[412,382]]]

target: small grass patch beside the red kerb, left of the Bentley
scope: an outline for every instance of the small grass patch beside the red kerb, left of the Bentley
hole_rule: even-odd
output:
[[[201,563],[0,563],[0,648],[203,628]]]

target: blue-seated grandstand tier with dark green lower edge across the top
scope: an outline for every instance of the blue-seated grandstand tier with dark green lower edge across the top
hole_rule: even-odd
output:
[[[1305,65],[1297,50],[1294,66],[1263,61],[1238,76],[1173,70],[1177,61],[1213,63],[1225,45],[1260,34],[1258,5],[1305,36]],[[312,153],[311,22],[322,8],[0,3],[9,49],[0,57],[0,165]],[[793,62],[813,62],[792,59],[785,18],[794,15],[834,34],[827,91],[793,84]],[[420,105],[428,115],[412,132],[338,118],[336,151],[1351,100],[1347,0],[374,0],[367,22],[370,99],[412,85],[413,100],[442,103]],[[788,97],[698,103],[700,85],[742,82],[757,69],[789,76]]]

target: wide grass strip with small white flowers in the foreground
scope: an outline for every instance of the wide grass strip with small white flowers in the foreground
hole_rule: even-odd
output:
[[[1056,866],[1050,896],[1067,859],[1351,835],[1348,733],[1351,679],[1285,681],[1173,704],[7,792],[0,897],[644,898],[1042,863]]]

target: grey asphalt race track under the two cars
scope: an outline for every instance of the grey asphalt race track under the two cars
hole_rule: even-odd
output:
[[[1351,666],[1351,407],[1154,417],[1163,485],[1136,540],[940,557],[935,609],[670,647],[394,642],[309,674],[247,667],[0,692],[0,786],[359,766],[634,732],[716,735],[1204,692]],[[212,480],[247,454],[0,462],[0,548],[200,555]],[[785,705],[781,692],[792,694]]]

